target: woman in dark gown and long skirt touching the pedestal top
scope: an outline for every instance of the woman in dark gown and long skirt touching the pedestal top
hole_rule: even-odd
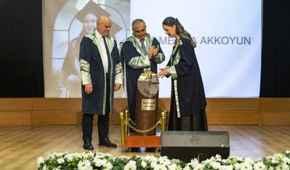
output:
[[[166,35],[175,37],[170,60],[158,73],[172,78],[168,130],[207,131],[206,96],[194,53],[197,45],[178,19],[167,17],[162,26]]]

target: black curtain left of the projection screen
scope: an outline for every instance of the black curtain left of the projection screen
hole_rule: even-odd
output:
[[[44,97],[42,0],[0,0],[0,97]]]

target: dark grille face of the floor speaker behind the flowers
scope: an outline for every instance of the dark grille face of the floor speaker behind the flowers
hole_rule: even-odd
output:
[[[162,131],[161,147],[229,147],[228,131]]]

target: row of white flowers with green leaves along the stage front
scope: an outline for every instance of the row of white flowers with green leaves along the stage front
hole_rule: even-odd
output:
[[[38,169],[62,170],[62,169],[112,169],[112,170],[139,170],[139,169],[169,169],[169,170],[289,170],[290,151],[276,153],[267,158],[240,158],[230,156],[226,160],[220,155],[199,162],[196,158],[185,163],[181,160],[168,159],[166,156],[134,155],[132,157],[114,157],[109,153],[84,152],[84,153],[53,153],[46,160],[37,158]]]

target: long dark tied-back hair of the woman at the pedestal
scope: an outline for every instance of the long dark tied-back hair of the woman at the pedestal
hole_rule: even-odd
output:
[[[174,17],[166,17],[164,21],[162,22],[162,25],[165,26],[176,26],[176,34],[179,35],[180,37],[183,37],[185,39],[189,39],[192,46],[195,48],[197,44],[194,43],[190,33],[188,33],[186,30],[184,30],[183,26],[179,22],[178,19]]]

